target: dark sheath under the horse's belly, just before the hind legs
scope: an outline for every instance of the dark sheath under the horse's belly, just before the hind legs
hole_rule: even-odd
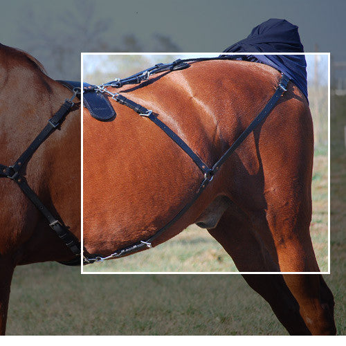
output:
[[[197,226],[201,228],[212,229],[217,226],[221,216],[224,215],[227,208],[232,202],[226,196],[219,196],[199,215],[199,218],[195,222]]]

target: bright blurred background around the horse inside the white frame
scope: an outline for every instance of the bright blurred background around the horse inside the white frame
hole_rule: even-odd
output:
[[[176,59],[215,56],[217,53],[202,55],[83,55],[83,81],[102,84],[116,78],[129,77],[129,75],[143,71],[159,62],[168,63]],[[320,270],[326,272],[328,271],[328,55],[306,55],[306,60],[309,101],[315,136],[311,237]],[[116,92],[116,89],[113,92]],[[84,271],[229,272],[237,271],[237,268],[226,251],[206,230],[192,225],[177,237],[151,251],[85,266]]]

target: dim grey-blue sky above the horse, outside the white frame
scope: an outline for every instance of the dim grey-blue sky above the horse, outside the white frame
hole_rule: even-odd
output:
[[[280,18],[298,25],[305,51],[346,61],[345,13],[344,0],[12,0],[1,3],[0,42],[71,79],[81,51],[217,52]]]

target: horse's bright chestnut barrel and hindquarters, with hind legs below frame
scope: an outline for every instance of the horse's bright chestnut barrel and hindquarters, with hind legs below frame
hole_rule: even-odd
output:
[[[280,73],[264,64],[208,61],[116,91],[152,109],[211,167],[262,111],[279,80]],[[95,120],[86,109],[83,116],[83,244],[102,257],[154,235],[193,199],[203,180],[162,129],[111,104],[113,121]],[[312,165],[311,113],[290,82],[265,122],[153,245],[197,224],[239,271],[319,271],[309,234]],[[333,295],[321,275],[244,278],[290,334],[336,333]]]

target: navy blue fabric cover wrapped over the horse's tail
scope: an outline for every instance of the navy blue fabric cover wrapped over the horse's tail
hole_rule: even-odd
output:
[[[298,26],[284,19],[268,19],[253,28],[246,39],[224,51],[224,53],[230,52],[304,53],[304,47],[300,42]],[[288,75],[307,97],[307,62],[304,55],[247,55],[246,60],[262,62]]]

